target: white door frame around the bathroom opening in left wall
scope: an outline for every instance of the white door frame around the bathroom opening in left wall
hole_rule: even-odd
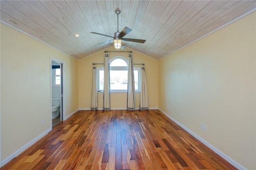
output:
[[[50,111],[52,111],[52,61],[61,64],[60,71],[60,121],[65,120],[65,62],[58,59],[50,58]],[[62,94],[61,94],[62,93]],[[50,112],[51,117],[51,129],[52,129],[52,112]]]

